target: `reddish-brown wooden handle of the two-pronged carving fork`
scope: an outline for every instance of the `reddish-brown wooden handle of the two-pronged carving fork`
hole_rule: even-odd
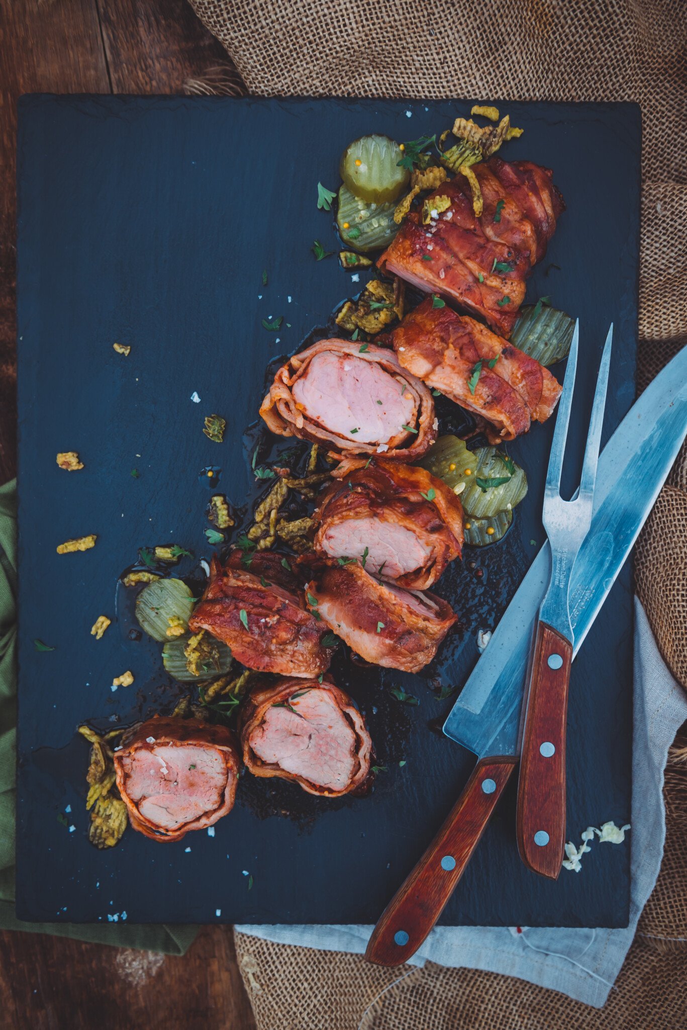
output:
[[[556,880],[565,845],[565,723],[573,662],[569,640],[537,626],[522,733],[516,833],[533,872]]]

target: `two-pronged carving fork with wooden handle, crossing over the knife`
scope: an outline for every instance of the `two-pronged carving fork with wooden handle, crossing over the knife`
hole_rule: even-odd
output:
[[[591,528],[612,341],[613,324],[596,377],[580,488],[572,501],[563,501],[560,474],[577,367],[575,325],[544,493],[543,522],[553,569],[539,610],[521,705],[516,835],[527,868],[551,880],[558,878],[565,844],[565,737],[575,640],[569,591],[575,561]]]

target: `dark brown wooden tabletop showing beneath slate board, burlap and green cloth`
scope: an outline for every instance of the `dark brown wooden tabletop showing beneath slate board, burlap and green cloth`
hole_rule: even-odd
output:
[[[24,93],[183,93],[219,65],[186,0],[0,0],[0,483],[16,469],[14,156]],[[229,927],[183,958],[0,933],[0,1028],[253,1030]]]

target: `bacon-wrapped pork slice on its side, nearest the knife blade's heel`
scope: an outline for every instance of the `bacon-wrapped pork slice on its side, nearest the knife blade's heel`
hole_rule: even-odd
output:
[[[311,607],[356,654],[405,673],[424,668],[457,620],[436,594],[384,583],[357,562],[324,569],[306,589]]]

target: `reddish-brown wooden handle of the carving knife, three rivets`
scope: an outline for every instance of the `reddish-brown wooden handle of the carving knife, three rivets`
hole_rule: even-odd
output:
[[[378,965],[402,965],[420,947],[441,916],[517,764],[515,755],[483,758],[448,819],[382,913],[365,957]]]

